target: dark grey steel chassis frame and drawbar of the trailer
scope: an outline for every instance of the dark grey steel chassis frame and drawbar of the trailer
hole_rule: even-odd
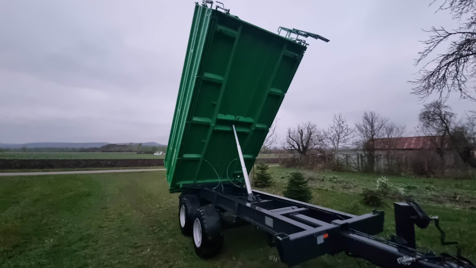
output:
[[[402,257],[416,258],[408,267],[462,267],[460,260],[450,255],[446,259],[440,255],[432,258],[428,253],[417,252],[408,246],[414,241],[404,245],[374,237],[383,231],[383,211],[356,216],[262,191],[253,190],[253,193],[256,202],[247,201],[244,188],[198,185],[184,189],[181,196],[197,195],[202,205],[212,204],[220,212],[229,212],[235,221],[241,219],[266,231],[270,246],[278,248],[281,261],[289,266],[345,251],[348,256],[364,258],[386,268],[403,267],[397,261]],[[405,208],[404,203],[396,203],[397,235],[415,239],[413,225],[401,231],[397,219],[402,219],[401,212],[397,212],[401,209],[397,204]]]

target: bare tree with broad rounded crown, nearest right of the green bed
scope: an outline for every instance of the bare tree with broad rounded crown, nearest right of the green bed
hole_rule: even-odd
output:
[[[300,123],[296,128],[288,128],[288,135],[283,142],[283,149],[297,151],[299,155],[306,156],[312,149],[321,149],[324,137],[316,124],[307,121]]]

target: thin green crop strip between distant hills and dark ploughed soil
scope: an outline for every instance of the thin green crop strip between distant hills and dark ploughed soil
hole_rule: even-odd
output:
[[[163,159],[165,155],[137,153],[45,153],[45,152],[0,152],[0,159]]]

